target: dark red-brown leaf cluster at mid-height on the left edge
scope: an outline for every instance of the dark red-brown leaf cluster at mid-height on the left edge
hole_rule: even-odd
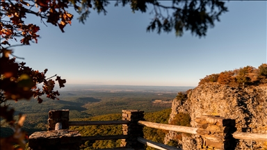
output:
[[[38,97],[38,103],[42,103],[40,96],[47,94],[49,99],[56,98],[59,93],[54,91],[55,81],[48,78],[46,79],[44,72],[33,70],[30,67],[26,67],[25,63],[15,63],[15,59],[9,59],[6,57],[0,58],[0,74],[3,74],[3,78],[0,80],[0,89],[4,91],[6,99],[30,99],[32,96]],[[56,77],[60,88],[64,87],[66,80],[61,79],[60,76]],[[38,83],[44,83],[42,90],[37,88]]]

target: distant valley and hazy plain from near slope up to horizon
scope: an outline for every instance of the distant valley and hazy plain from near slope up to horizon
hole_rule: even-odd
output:
[[[26,114],[24,128],[33,131],[46,131],[49,110],[70,110],[70,120],[99,115],[118,114],[122,110],[143,110],[152,113],[171,107],[177,92],[194,87],[162,87],[131,85],[67,85],[56,89],[60,100],[42,97],[42,103],[36,99],[8,101],[15,108],[15,117]],[[1,131],[8,125],[1,120]],[[1,132],[1,137],[6,136]]]

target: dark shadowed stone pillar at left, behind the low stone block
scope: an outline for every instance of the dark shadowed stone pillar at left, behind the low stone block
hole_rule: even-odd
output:
[[[61,122],[62,129],[69,129],[69,110],[50,110],[48,113],[48,131],[54,131],[56,123]]]

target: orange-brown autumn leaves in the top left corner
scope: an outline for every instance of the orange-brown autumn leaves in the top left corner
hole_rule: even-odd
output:
[[[22,37],[19,41],[22,44],[30,44],[30,41],[34,40],[38,42],[40,31],[39,26],[33,24],[24,24],[22,18],[26,18],[27,14],[33,14],[41,19],[46,19],[47,22],[58,26],[62,32],[67,24],[72,24],[73,15],[65,10],[68,8],[67,0],[35,0],[33,3],[28,3],[26,0],[17,0],[10,3],[8,1],[2,1],[1,18],[9,20],[1,20],[0,34],[1,38],[5,38],[6,42],[1,44],[9,44],[8,40],[15,39],[15,37]],[[32,6],[40,8],[39,11],[31,10]],[[17,41],[17,39],[15,40]]]

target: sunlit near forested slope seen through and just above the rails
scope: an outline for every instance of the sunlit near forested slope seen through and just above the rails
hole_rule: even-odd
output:
[[[148,122],[156,122],[161,124],[168,124],[170,116],[170,109],[157,111],[154,113],[145,113],[145,120]],[[83,119],[72,119],[76,121],[104,121],[104,120],[121,120],[122,114],[101,115]],[[122,135],[122,125],[108,125],[108,126],[70,126],[71,129],[79,131],[82,136],[95,135]],[[165,133],[162,130],[145,127],[143,129],[144,138],[154,142],[163,143]],[[86,141],[81,145],[81,149],[104,149],[120,147],[120,140],[95,140]],[[152,149],[147,147],[148,149]]]

